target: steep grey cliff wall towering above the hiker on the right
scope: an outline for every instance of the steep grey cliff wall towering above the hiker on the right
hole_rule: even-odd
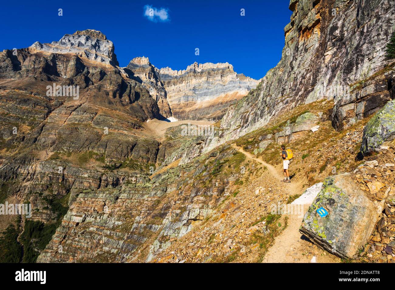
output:
[[[298,105],[333,100],[332,125],[342,130],[394,97],[395,64],[386,58],[395,31],[394,1],[291,0],[290,9],[280,62],[227,110],[220,138],[205,140],[185,162]]]

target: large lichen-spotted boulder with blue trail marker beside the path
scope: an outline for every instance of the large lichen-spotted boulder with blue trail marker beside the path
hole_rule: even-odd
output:
[[[353,258],[370,238],[384,201],[374,204],[350,173],[329,176],[303,217],[300,232],[340,258]]]

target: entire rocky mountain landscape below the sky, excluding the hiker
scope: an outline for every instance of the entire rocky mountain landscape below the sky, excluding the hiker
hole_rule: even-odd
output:
[[[0,52],[0,204],[32,208],[0,259],[395,263],[395,2],[289,8],[260,80],[92,29]]]

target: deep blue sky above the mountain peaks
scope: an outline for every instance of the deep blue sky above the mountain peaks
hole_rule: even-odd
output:
[[[170,20],[147,19],[147,4],[167,8]],[[288,4],[289,0],[3,1],[0,50],[28,47],[35,41],[50,43],[90,28],[113,41],[120,66],[143,55],[159,68],[229,62],[238,73],[260,79],[281,58],[283,29],[292,13]],[[58,16],[58,8],[63,16]]]

